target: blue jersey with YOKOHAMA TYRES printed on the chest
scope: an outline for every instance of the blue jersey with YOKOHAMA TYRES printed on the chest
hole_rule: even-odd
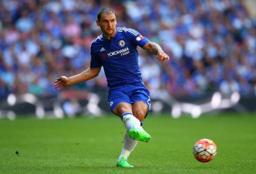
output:
[[[91,68],[103,66],[108,87],[142,82],[137,46],[149,42],[139,32],[116,27],[115,36],[108,40],[101,34],[91,44]]]

